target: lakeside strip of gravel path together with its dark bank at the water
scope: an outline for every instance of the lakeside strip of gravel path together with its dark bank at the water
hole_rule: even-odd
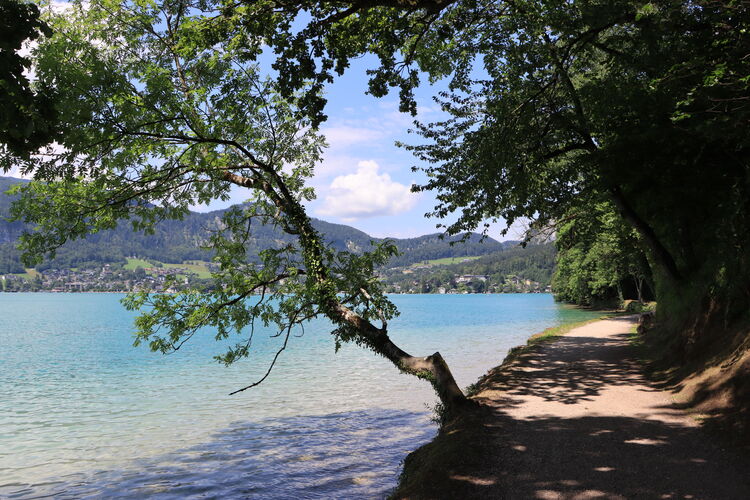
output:
[[[475,384],[476,410],[406,457],[389,498],[742,498],[747,449],[648,376],[639,317],[562,325],[512,349]],[[644,482],[644,470],[659,474]]]

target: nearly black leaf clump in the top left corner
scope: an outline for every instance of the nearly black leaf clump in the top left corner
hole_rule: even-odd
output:
[[[32,152],[53,138],[54,106],[32,89],[24,74],[31,61],[19,54],[41,33],[51,32],[36,4],[0,1],[0,144],[15,154]]]

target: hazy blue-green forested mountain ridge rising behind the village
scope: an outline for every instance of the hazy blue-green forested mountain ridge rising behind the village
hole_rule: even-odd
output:
[[[0,193],[12,185],[27,182],[12,177],[0,177]],[[0,194],[0,274],[23,272],[14,244],[25,229],[19,222],[8,222],[10,196]],[[125,262],[125,257],[137,256],[166,263],[182,263],[186,260],[210,260],[212,251],[202,248],[206,244],[208,231],[217,227],[224,210],[207,213],[190,212],[183,220],[163,221],[156,225],[153,235],[133,232],[127,224],[111,231],[103,231],[88,236],[84,240],[65,244],[57,252],[53,261],[40,266],[49,268],[84,267],[90,264]],[[313,225],[333,245],[336,250],[362,252],[370,247],[370,242],[382,241],[367,233],[343,224],[332,224],[313,219]],[[258,225],[248,242],[248,255],[252,258],[263,249],[278,248],[291,241],[293,236],[271,226]],[[417,238],[391,238],[402,253],[389,263],[389,266],[406,266],[416,262],[446,257],[487,255],[502,250],[511,243],[500,243],[492,238],[481,241],[481,236],[472,234],[464,243],[451,245],[460,239],[441,238],[439,233]]]

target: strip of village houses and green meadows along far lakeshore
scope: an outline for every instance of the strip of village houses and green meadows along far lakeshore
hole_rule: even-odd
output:
[[[545,293],[551,292],[551,245],[508,248],[485,256],[450,257],[384,268],[379,277],[388,293]],[[70,269],[26,269],[0,275],[2,292],[174,293],[213,287],[207,261],[162,263],[127,257],[124,263],[88,264]]]

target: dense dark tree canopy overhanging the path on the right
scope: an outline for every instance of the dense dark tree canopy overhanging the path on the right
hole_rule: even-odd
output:
[[[226,19],[250,26],[255,5]],[[702,345],[683,328],[696,314],[719,329],[748,319],[748,2],[295,5],[311,20],[276,25],[279,68],[325,81],[375,53],[370,91],[399,87],[411,111],[417,69],[450,78],[438,96],[449,118],[419,124],[409,147],[428,165],[419,189],[438,194],[432,215],[459,215],[450,232],[487,218],[547,224],[606,201],[638,232],[659,314],[689,332],[686,354]]]

